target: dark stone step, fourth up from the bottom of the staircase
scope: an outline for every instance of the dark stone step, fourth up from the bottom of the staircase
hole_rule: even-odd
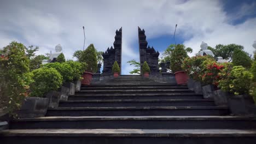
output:
[[[121,107],[121,106],[215,106],[208,99],[127,99],[127,100],[67,100],[59,107]]]

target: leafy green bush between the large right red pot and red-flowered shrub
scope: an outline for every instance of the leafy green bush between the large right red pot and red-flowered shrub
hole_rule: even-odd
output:
[[[201,75],[203,75],[203,62],[215,61],[211,56],[194,56],[184,59],[182,69],[189,75],[189,77],[196,81],[201,81]]]

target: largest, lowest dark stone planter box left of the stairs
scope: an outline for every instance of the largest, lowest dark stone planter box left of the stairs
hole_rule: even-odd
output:
[[[48,98],[27,97],[23,101],[21,109],[18,111],[18,117],[43,117],[47,112],[48,104]]]

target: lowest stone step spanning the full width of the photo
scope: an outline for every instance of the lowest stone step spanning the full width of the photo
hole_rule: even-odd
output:
[[[255,130],[236,129],[13,129],[1,143],[256,143]]]

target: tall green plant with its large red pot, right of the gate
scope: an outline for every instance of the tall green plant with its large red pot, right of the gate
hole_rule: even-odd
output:
[[[193,50],[190,47],[186,48],[182,44],[172,46],[170,54],[171,71],[174,73],[178,85],[186,85],[188,75],[182,69],[182,63],[185,58],[189,57],[188,52],[192,52]]]

